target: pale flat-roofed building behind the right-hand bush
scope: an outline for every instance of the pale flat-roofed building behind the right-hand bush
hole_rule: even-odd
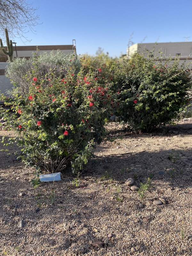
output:
[[[127,58],[130,59],[136,52],[143,53],[145,58],[165,60],[171,57],[172,60],[179,58],[181,63],[188,59],[189,63],[192,60],[192,42],[133,44],[127,48]]]

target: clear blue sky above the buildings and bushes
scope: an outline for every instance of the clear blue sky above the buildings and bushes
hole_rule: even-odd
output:
[[[40,16],[32,39],[17,45],[72,44],[77,54],[95,55],[98,47],[111,57],[132,43],[192,41],[191,0],[27,0]],[[132,34],[133,33],[133,34]],[[132,35],[132,36],[131,36]],[[132,38],[131,38],[132,37]],[[11,38],[10,38],[11,39]]]

